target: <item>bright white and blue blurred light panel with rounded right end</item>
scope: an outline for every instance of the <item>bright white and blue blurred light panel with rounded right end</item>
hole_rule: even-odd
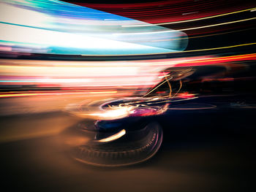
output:
[[[63,1],[1,0],[0,11],[0,45],[7,52],[136,55],[169,53],[187,47],[184,32],[170,32],[169,28],[152,24],[121,28],[148,23]],[[165,33],[154,36],[152,31]],[[117,33],[118,36],[113,35]]]

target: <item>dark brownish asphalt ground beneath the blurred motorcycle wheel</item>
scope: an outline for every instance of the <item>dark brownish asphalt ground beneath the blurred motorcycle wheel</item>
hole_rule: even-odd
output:
[[[64,112],[1,117],[1,135],[13,126],[21,132],[61,130],[78,121]],[[61,144],[62,130],[19,137],[0,144],[1,186],[4,191],[254,191],[254,122],[252,108],[168,115],[157,155],[122,168],[73,160]]]

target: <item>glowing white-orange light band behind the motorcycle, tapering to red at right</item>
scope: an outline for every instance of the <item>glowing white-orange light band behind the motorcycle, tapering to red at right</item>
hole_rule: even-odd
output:
[[[31,61],[0,60],[0,85],[10,87],[143,88],[159,81],[170,66],[203,66],[223,62],[255,60],[256,53],[218,57],[206,55],[143,61]],[[95,93],[95,92],[91,92]]]

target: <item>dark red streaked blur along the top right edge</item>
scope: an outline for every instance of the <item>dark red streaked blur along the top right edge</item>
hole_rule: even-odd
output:
[[[168,25],[187,21],[204,20],[239,14],[255,9],[252,1],[157,1],[129,4],[93,4],[69,0],[75,4],[104,10],[127,18],[143,20],[147,23]]]

